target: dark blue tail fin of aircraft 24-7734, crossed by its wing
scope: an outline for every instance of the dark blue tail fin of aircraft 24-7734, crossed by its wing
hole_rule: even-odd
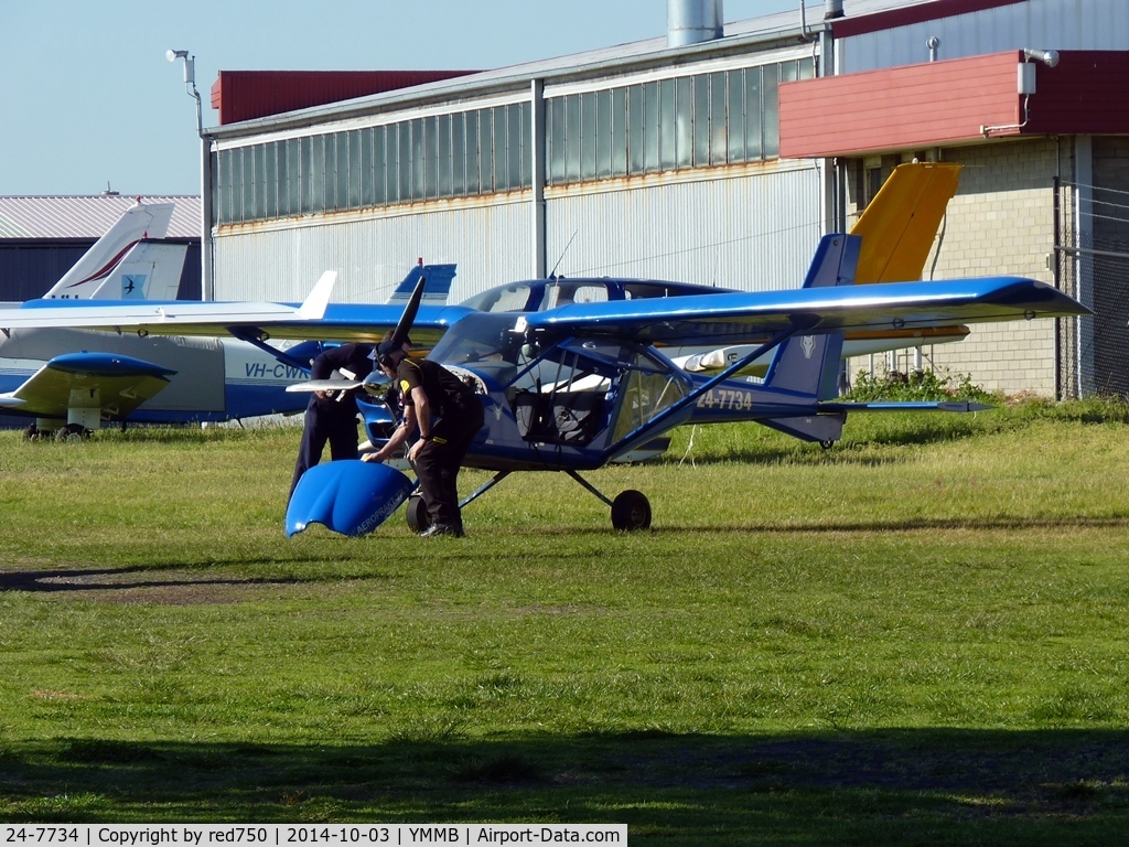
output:
[[[851,285],[858,253],[859,239],[856,236],[824,236],[807,271],[804,288]],[[842,347],[841,331],[793,335],[777,348],[764,376],[764,386],[813,395],[817,400],[837,396]]]

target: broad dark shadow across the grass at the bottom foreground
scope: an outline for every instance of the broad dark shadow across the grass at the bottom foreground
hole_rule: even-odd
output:
[[[1113,844],[1129,732],[0,744],[0,819],[615,822],[631,844]]]

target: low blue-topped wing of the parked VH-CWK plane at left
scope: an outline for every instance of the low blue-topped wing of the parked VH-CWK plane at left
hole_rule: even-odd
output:
[[[65,353],[35,372],[18,388],[0,394],[0,409],[43,418],[67,418],[86,401],[114,417],[129,414],[158,394],[176,372],[113,353]]]

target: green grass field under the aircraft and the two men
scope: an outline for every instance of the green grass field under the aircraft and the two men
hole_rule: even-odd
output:
[[[681,430],[589,477],[650,532],[526,474],[426,542],[287,540],[294,429],[0,434],[0,820],[1123,841],[1127,421]]]

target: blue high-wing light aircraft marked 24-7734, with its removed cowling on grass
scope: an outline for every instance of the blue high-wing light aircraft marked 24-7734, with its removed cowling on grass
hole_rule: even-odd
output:
[[[834,375],[844,333],[1088,314],[1045,283],[1018,277],[851,285],[858,236],[825,236],[804,287],[638,302],[572,303],[544,312],[490,314],[465,306],[329,304],[332,277],[300,306],[271,303],[105,304],[54,302],[0,311],[0,326],[67,323],[110,331],[229,334],[259,339],[376,342],[388,330],[431,348],[428,358],[462,373],[487,425],[464,464],[495,475],[470,503],[514,471],[563,472],[611,507],[616,529],[650,525],[645,495],[605,497],[580,475],[673,427],[755,421],[830,445],[851,411],[954,410],[968,403],[844,403]],[[659,344],[745,344],[767,338],[712,376],[677,367]],[[730,377],[774,351],[762,384]],[[310,469],[287,513],[287,533],[318,522],[364,534],[408,498],[412,482],[387,466],[330,462]],[[418,517],[418,516],[417,516]],[[409,519],[412,519],[409,514]]]

